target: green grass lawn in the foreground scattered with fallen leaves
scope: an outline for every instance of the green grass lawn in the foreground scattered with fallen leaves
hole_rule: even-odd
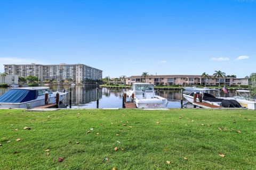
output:
[[[255,124],[247,110],[0,110],[0,169],[255,169]]]

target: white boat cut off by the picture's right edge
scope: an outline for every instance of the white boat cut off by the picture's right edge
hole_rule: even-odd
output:
[[[256,99],[250,97],[249,90],[236,90],[236,92],[238,93],[238,96],[226,97],[223,99],[234,99],[243,107],[247,107],[252,110],[256,109]]]

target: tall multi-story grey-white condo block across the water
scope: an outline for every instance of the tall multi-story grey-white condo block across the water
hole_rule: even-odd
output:
[[[72,79],[74,83],[81,84],[85,79],[102,79],[102,70],[85,64],[4,64],[4,71],[8,74],[19,75],[20,77],[34,75],[41,82],[53,79],[57,82]]]

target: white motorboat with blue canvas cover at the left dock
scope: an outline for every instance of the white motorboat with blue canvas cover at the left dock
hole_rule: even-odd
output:
[[[49,87],[26,87],[14,88],[0,96],[0,108],[27,108],[43,106],[45,104],[45,93],[48,93],[48,103],[56,103],[56,93],[51,92]],[[59,92],[59,101],[67,95],[67,92]]]

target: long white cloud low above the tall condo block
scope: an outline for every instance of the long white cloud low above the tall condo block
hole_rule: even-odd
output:
[[[0,72],[4,72],[4,66],[2,64],[46,64],[42,60],[36,60],[33,58],[18,58],[18,57],[0,57]]]

